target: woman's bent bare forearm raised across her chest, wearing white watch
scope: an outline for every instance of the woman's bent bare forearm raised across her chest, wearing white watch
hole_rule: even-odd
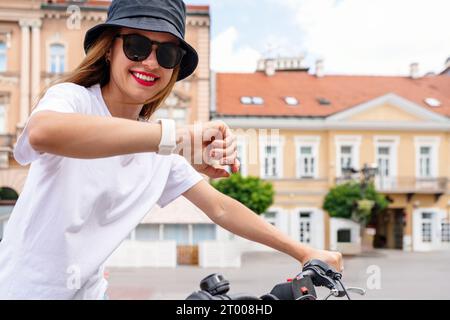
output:
[[[40,152],[90,159],[157,151],[161,127],[116,117],[39,112],[30,120],[29,135]]]

